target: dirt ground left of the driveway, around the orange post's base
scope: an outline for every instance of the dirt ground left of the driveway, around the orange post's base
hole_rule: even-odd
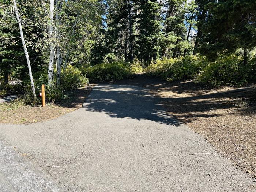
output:
[[[52,120],[82,106],[95,84],[78,88],[68,94],[68,98],[60,103],[48,103],[41,106],[13,107],[10,103],[0,104],[0,123],[30,124],[39,121]]]

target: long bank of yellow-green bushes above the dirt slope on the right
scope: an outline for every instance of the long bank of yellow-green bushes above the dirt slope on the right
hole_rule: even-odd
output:
[[[256,79],[256,59],[243,64],[241,55],[223,56],[215,61],[205,57],[186,56],[178,59],[158,60],[144,71],[150,76],[159,76],[169,82],[191,80],[214,87],[241,86]]]

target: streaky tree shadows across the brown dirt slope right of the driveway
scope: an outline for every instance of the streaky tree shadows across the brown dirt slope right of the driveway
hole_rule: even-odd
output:
[[[255,87],[227,90],[230,88],[211,88],[192,81],[168,83],[159,78],[148,78],[144,74],[136,74],[134,79],[115,83],[140,86],[153,93],[172,118],[175,117],[179,122],[189,123],[200,117],[219,117],[226,114],[254,115],[256,112]]]

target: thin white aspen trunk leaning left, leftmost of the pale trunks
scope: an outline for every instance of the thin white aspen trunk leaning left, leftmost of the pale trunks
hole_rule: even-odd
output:
[[[24,53],[25,53],[25,56],[26,56],[26,59],[27,59],[27,67],[29,68],[29,77],[30,77],[32,92],[33,92],[33,95],[34,95],[34,99],[37,99],[37,95],[35,94],[35,85],[34,85],[33,75],[32,75],[32,71],[31,71],[30,60],[29,60],[29,53],[27,52],[27,47],[26,47],[26,43],[25,43],[25,40],[24,40],[24,36],[23,36],[23,30],[22,30],[22,25],[21,25],[21,21],[20,21],[20,17],[19,17],[19,12],[18,12],[18,8],[17,8],[16,0],[12,0],[12,2],[14,4],[15,15],[16,15],[17,22],[18,22],[18,25],[19,25],[20,38],[21,38]]]

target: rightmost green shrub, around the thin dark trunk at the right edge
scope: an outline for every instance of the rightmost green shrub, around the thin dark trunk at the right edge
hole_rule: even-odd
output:
[[[209,62],[196,78],[196,82],[212,86],[241,86],[255,79],[255,59],[243,64],[242,56],[230,55]]]

